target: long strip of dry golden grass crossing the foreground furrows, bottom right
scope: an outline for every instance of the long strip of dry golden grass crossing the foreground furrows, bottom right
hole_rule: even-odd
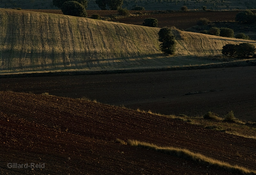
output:
[[[256,174],[256,171],[254,171],[254,170],[249,170],[249,169],[244,168],[239,165],[231,165],[226,162],[213,159],[211,157],[206,157],[200,153],[191,152],[188,149],[181,149],[181,148],[176,148],[176,147],[159,147],[159,146],[151,144],[151,143],[140,142],[137,140],[128,140],[127,144],[131,145],[131,146],[152,149],[152,150],[155,150],[158,152],[175,155],[175,156],[182,157],[182,158],[188,158],[188,159],[194,160],[196,162],[207,163],[207,164],[213,165],[215,167],[225,169],[226,171],[229,171],[229,172],[244,173],[244,174]]]

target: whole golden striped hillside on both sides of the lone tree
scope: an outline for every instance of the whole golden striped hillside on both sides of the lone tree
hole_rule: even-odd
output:
[[[159,51],[159,28],[7,9],[0,9],[0,24],[2,74],[208,64],[217,61],[187,56],[218,55],[243,41],[173,30],[177,55],[169,57]]]

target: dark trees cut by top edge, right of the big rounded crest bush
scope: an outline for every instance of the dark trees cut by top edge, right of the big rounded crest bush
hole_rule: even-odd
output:
[[[107,10],[107,6],[110,10],[117,10],[123,6],[123,0],[96,0],[95,3],[101,10]]]

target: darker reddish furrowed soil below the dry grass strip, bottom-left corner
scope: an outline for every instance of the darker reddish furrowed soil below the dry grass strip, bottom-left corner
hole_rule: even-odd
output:
[[[7,122],[2,117],[1,114],[0,136],[10,131],[15,132],[8,137],[1,137],[1,144],[5,142],[0,150],[2,174],[7,172],[9,174],[155,174],[156,172],[157,174],[203,174],[205,172],[226,174],[225,171],[206,168],[206,165],[194,164],[189,160],[151,150],[100,141],[68,132],[60,133],[53,129],[36,126],[34,122],[20,122],[18,117],[10,117],[10,121]],[[12,142],[11,139],[19,138],[17,136],[20,134],[27,137]],[[8,138],[11,144],[3,138]],[[33,142],[28,144],[31,140]],[[15,171],[15,169],[6,168],[6,164],[10,161],[44,162],[45,169]],[[186,164],[182,165],[182,163]],[[202,167],[199,168],[199,166]]]

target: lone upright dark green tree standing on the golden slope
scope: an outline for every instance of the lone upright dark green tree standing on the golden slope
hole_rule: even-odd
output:
[[[176,50],[176,41],[175,36],[172,34],[171,29],[167,27],[161,28],[160,31],[158,32],[158,36],[158,40],[162,42],[160,44],[161,51],[165,54],[174,54]]]

